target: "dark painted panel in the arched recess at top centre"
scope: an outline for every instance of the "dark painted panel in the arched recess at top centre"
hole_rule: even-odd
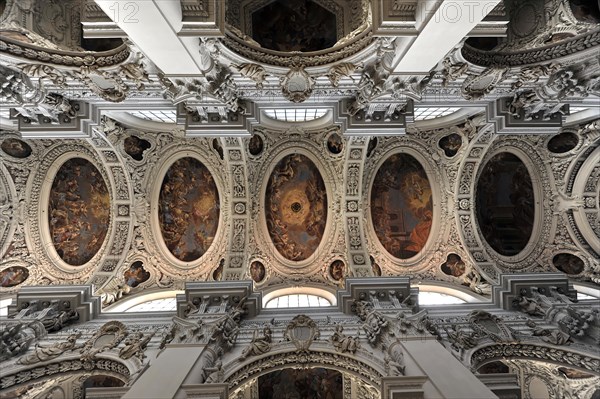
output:
[[[324,50],[338,40],[336,17],[312,0],[276,0],[252,15],[252,38],[271,50]]]

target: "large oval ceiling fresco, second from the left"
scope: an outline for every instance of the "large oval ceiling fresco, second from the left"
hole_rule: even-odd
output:
[[[190,262],[210,247],[219,225],[219,192],[210,171],[195,158],[171,165],[158,198],[164,242],[177,259]]]

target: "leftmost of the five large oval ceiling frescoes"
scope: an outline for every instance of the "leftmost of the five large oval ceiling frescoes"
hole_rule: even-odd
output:
[[[110,196],[88,160],[71,158],[54,177],[48,224],[54,248],[67,264],[81,266],[100,250],[110,221]]]

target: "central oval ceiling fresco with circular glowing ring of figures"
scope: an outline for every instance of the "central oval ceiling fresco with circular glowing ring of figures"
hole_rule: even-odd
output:
[[[289,260],[307,259],[319,246],[327,221],[327,193],[319,170],[304,155],[287,155],[273,169],[265,196],[275,248]]]

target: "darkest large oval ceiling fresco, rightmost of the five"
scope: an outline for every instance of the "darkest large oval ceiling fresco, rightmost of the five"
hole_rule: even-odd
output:
[[[516,155],[492,157],[477,181],[477,222],[483,237],[505,256],[520,253],[529,242],[535,220],[533,185]]]

